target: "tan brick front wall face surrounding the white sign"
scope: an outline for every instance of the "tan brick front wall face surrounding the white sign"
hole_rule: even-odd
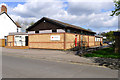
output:
[[[60,40],[52,41],[52,35],[60,35]],[[29,48],[64,49],[64,33],[30,34]]]

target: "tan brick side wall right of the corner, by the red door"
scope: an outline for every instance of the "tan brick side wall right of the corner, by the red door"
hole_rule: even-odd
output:
[[[95,36],[72,34],[72,33],[65,33],[65,34],[66,34],[65,36],[66,49],[75,47],[75,35],[77,35],[78,46],[85,46],[85,47],[95,46]]]

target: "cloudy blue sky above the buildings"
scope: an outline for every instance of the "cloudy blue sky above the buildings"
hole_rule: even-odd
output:
[[[0,0],[14,21],[36,22],[42,17],[91,29],[97,33],[118,28],[118,17],[110,16],[113,0]]]

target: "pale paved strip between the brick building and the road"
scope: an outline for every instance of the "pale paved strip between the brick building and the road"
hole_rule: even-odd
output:
[[[62,61],[62,62],[97,65],[93,63],[90,59],[76,56],[74,54],[71,54],[70,52],[58,51],[58,50],[40,50],[40,49],[23,50],[23,49],[2,48],[2,52],[3,55],[27,57],[34,59],[44,59],[50,61]]]

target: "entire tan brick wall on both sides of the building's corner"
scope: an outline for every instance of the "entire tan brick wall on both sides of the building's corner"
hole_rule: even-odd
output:
[[[60,40],[51,40],[52,35],[59,35]],[[73,33],[42,33],[29,34],[29,48],[41,49],[71,49],[75,47],[75,35],[77,35],[78,46],[95,46],[95,36],[80,35]],[[81,39],[82,38],[82,39]],[[83,40],[83,41],[81,41]]]

